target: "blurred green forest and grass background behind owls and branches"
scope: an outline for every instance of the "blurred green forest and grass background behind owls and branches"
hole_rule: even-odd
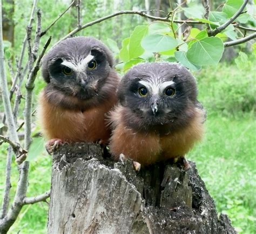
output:
[[[83,23],[120,10],[156,9],[160,11],[151,11],[151,15],[165,16],[166,14],[161,10],[168,12],[170,5],[173,9],[177,3],[177,1],[171,0],[81,2]],[[216,9],[223,2],[211,0],[211,8]],[[42,27],[48,26],[70,3],[69,0],[39,0],[38,8],[42,9]],[[203,10],[200,0],[187,1],[185,4],[197,11]],[[251,4],[254,2],[251,1]],[[5,54],[10,64],[16,63],[15,58],[21,51],[31,8],[31,0],[3,1]],[[76,27],[76,11],[74,5],[65,17],[49,30],[48,35],[52,35],[51,45]],[[110,38],[117,42],[120,49],[122,40],[130,36],[135,26],[146,25],[149,22],[150,20],[137,15],[122,15],[87,27],[77,35],[94,36],[106,44],[108,43],[107,39]],[[250,50],[250,43],[226,49],[221,63],[217,66],[208,66],[193,72],[198,81],[199,101],[207,109],[208,115],[205,139],[187,155],[189,160],[197,163],[199,175],[214,198],[218,212],[228,214],[239,233],[256,232],[256,64],[255,54]],[[241,51],[245,52],[246,56],[246,62],[242,63],[242,66],[241,63],[235,63],[235,58]],[[11,84],[13,71],[8,67],[6,71]],[[35,86],[36,95],[44,85],[43,79],[39,75]],[[35,99],[35,106],[36,101]],[[2,119],[2,102],[0,102],[0,107]],[[24,105],[21,104],[19,112],[21,116],[23,107]],[[38,134],[38,132],[40,132],[40,127],[35,118],[33,134]],[[22,138],[22,131],[19,136]],[[4,189],[7,146],[8,144],[3,143],[0,149],[1,198]],[[15,168],[16,163],[13,162],[12,166]],[[11,196],[14,196],[17,177],[18,171],[13,170]],[[31,159],[28,196],[35,196],[49,190],[50,178],[51,157],[45,152]],[[11,227],[10,233],[17,233],[19,230],[21,230],[19,233],[46,233],[47,213],[48,204],[46,203],[23,207],[18,220]]]

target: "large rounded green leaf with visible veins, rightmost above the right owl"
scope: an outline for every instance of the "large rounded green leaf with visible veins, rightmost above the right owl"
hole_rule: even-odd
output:
[[[187,51],[187,59],[195,65],[216,65],[223,54],[224,45],[218,37],[205,37]]]

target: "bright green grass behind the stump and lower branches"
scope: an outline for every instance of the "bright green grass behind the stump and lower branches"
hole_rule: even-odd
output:
[[[199,175],[214,198],[218,212],[228,214],[239,233],[255,233],[255,68],[239,71],[235,65],[219,64],[195,76],[199,100],[208,116],[204,140],[187,157],[197,163]],[[39,85],[42,86],[42,81]],[[1,178],[4,178],[5,148],[3,144],[0,149]],[[50,177],[50,156],[45,154],[31,161],[28,196],[48,190]],[[11,197],[17,178],[13,162]],[[2,192],[1,179],[0,196]],[[46,233],[47,215],[46,203],[26,205],[10,233]]]

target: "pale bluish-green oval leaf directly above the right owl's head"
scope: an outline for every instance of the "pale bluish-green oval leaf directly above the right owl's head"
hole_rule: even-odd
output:
[[[150,52],[168,51],[177,45],[177,40],[168,35],[149,35],[142,39],[142,47]]]

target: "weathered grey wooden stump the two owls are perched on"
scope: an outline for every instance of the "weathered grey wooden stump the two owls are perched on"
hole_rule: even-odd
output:
[[[62,146],[53,155],[48,232],[236,233],[191,166],[136,173],[130,160],[103,159],[97,144]]]

